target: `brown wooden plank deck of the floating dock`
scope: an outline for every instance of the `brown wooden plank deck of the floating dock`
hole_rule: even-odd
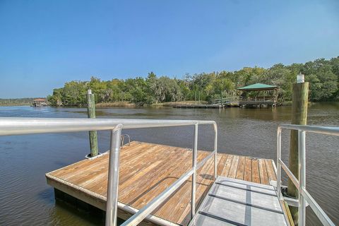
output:
[[[198,151],[197,162],[208,155]],[[105,210],[108,157],[82,160],[46,174],[55,189]],[[153,143],[131,142],[121,148],[119,204],[140,209],[175,182],[192,165],[191,150]],[[200,203],[213,184],[214,158],[197,172],[196,203]],[[218,153],[218,175],[259,184],[276,181],[273,160]],[[191,180],[187,181],[153,215],[178,225],[190,220]],[[118,210],[119,218],[131,216]],[[145,222],[148,223],[148,222]]]

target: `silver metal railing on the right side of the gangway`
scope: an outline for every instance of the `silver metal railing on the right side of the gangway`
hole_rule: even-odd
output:
[[[282,129],[297,130],[298,131],[298,150],[299,150],[299,179],[290,171],[281,160],[281,131]],[[309,203],[312,210],[319,218],[323,225],[334,225],[328,215],[321,209],[318,203],[312,198],[306,189],[306,132],[321,133],[326,135],[339,136],[339,127],[326,127],[326,126],[302,126],[293,124],[281,124],[278,126],[277,131],[277,190],[278,198],[283,200],[281,193],[281,168],[285,170],[287,176],[291,179],[298,189],[298,225],[304,226],[306,224],[306,204]]]

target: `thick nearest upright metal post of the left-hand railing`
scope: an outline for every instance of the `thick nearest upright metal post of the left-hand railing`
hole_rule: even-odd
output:
[[[117,225],[117,205],[119,186],[119,154],[122,125],[119,124],[111,131],[111,144],[108,163],[108,186],[106,201],[106,226]]]

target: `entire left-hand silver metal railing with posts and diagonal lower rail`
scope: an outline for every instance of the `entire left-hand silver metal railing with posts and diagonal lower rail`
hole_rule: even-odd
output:
[[[201,162],[196,162],[198,148],[198,125],[212,124],[214,129],[214,150]],[[168,126],[194,125],[194,142],[192,149],[192,167],[176,182],[169,186],[150,203],[138,210],[123,225],[138,225],[143,219],[150,218],[150,213],[160,206],[184,182],[192,177],[191,218],[196,213],[196,170],[200,169],[211,157],[214,157],[214,179],[217,177],[217,143],[218,129],[215,121],[197,120],[158,120],[158,119],[46,119],[46,118],[1,118],[0,136],[24,135],[33,133],[66,133],[80,131],[111,131],[109,148],[109,169],[107,184],[106,225],[117,225],[119,154],[121,148],[121,129],[139,129]],[[165,224],[165,221],[157,222]]]

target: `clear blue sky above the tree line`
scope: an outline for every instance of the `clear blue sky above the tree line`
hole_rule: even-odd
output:
[[[0,98],[339,55],[339,1],[0,0]]]

